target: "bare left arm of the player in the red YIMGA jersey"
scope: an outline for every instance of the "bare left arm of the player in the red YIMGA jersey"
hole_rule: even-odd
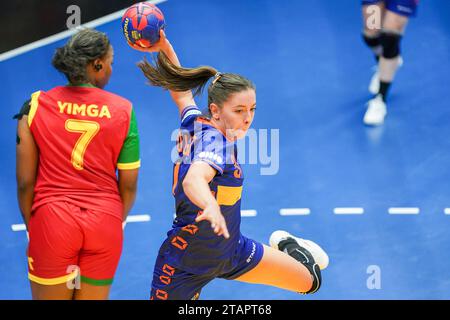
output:
[[[19,208],[28,230],[34,198],[34,185],[36,184],[39,151],[27,121],[28,116],[23,116],[17,124],[19,142],[16,145],[16,181]]]

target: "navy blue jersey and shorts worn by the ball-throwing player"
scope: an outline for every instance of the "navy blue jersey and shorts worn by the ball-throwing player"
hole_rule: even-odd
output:
[[[202,287],[214,278],[235,279],[254,268],[264,251],[262,244],[240,232],[244,177],[236,143],[228,141],[191,106],[181,115],[177,147],[172,189],[176,218],[159,250],[151,299],[198,298]],[[195,161],[206,162],[216,170],[209,187],[227,223],[229,239],[215,234],[209,221],[195,222],[201,208],[189,200],[182,185]]]

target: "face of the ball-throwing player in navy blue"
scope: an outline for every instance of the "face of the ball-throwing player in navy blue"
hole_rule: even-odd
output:
[[[244,138],[250,128],[256,110],[256,93],[248,89],[232,94],[220,109],[220,119],[223,122],[227,137]]]

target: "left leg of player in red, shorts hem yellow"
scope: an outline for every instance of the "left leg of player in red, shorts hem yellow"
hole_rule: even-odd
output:
[[[70,300],[82,234],[64,202],[37,208],[30,219],[28,278],[33,299]]]

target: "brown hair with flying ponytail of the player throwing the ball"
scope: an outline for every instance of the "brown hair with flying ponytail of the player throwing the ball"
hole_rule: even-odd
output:
[[[222,106],[228,97],[247,89],[255,90],[255,85],[248,79],[234,73],[219,73],[210,66],[183,68],[175,66],[169,58],[159,52],[155,65],[146,59],[138,63],[150,85],[172,91],[193,90],[193,95],[199,95],[210,79],[208,86],[208,106],[215,103]]]

